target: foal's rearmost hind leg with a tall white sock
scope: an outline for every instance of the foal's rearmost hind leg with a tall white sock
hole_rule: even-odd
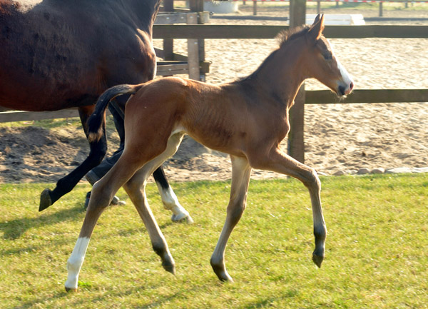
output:
[[[123,156],[111,168],[111,171],[93,186],[81,232],[78,235],[73,253],[71,253],[67,261],[68,278],[65,284],[67,291],[77,290],[78,274],[80,273],[83,260],[85,259],[86,248],[88,248],[88,243],[98,218],[111,202],[118,189],[133,176],[133,173],[140,166],[140,163],[136,160],[127,160],[126,153],[123,153]]]

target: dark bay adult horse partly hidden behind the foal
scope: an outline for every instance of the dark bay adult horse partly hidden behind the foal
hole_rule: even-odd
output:
[[[152,26],[159,5],[160,0],[0,0],[0,106],[23,111],[77,107],[86,131],[103,91],[155,76]],[[123,106],[118,101],[112,109],[118,126],[123,126]],[[105,136],[91,141],[90,147],[78,168],[61,178],[53,191],[41,194],[40,211],[101,162]],[[162,169],[154,176],[173,219],[189,219]]]

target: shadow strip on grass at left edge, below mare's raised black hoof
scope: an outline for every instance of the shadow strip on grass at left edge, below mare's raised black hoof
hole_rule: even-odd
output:
[[[74,208],[64,209],[49,215],[41,215],[36,218],[19,218],[12,221],[0,222],[0,231],[3,231],[4,239],[14,240],[21,237],[30,228],[39,228],[41,226],[54,225],[64,221],[81,220],[78,215],[83,213],[84,210],[81,206]]]

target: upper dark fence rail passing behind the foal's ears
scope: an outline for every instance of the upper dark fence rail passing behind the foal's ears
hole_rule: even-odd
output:
[[[154,25],[153,39],[273,39],[288,26]],[[428,26],[326,26],[331,39],[428,38]]]

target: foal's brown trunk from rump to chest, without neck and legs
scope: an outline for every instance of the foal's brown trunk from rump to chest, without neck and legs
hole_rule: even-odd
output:
[[[275,102],[246,88],[178,77],[145,83],[126,106],[127,141],[145,146],[141,136],[153,134],[163,147],[172,132],[185,131],[205,146],[235,156],[247,156],[267,141],[273,147],[288,131],[285,116]]]

